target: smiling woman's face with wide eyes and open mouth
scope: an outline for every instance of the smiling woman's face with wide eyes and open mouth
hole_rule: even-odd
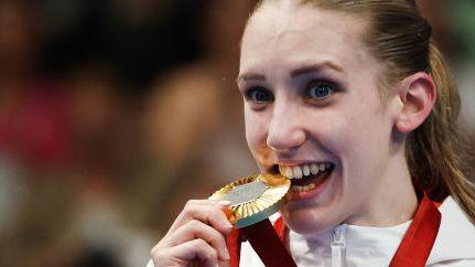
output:
[[[258,11],[242,38],[247,141],[262,172],[292,178],[282,213],[299,233],[369,222],[392,175],[395,116],[365,29],[356,17],[283,2]]]

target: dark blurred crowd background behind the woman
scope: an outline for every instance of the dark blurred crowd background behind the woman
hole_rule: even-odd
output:
[[[144,266],[187,199],[256,172],[255,0],[0,1],[0,266]],[[475,141],[475,1],[423,0]]]

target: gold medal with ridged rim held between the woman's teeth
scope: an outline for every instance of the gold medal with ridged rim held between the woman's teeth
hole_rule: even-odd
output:
[[[240,179],[216,191],[210,200],[227,200],[242,228],[268,218],[279,211],[279,203],[290,189],[290,180],[280,174],[258,174]]]

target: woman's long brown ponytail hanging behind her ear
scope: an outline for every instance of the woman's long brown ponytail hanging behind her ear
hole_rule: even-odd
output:
[[[452,195],[475,223],[475,185],[468,179],[469,167],[464,165],[468,157],[464,151],[468,150],[456,124],[461,99],[442,54],[432,42],[428,71],[438,98],[431,115],[407,140],[411,177],[434,201]]]

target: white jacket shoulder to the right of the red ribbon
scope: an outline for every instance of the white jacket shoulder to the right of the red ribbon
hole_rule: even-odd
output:
[[[475,226],[450,196],[439,210],[442,221],[428,265],[475,266]]]

